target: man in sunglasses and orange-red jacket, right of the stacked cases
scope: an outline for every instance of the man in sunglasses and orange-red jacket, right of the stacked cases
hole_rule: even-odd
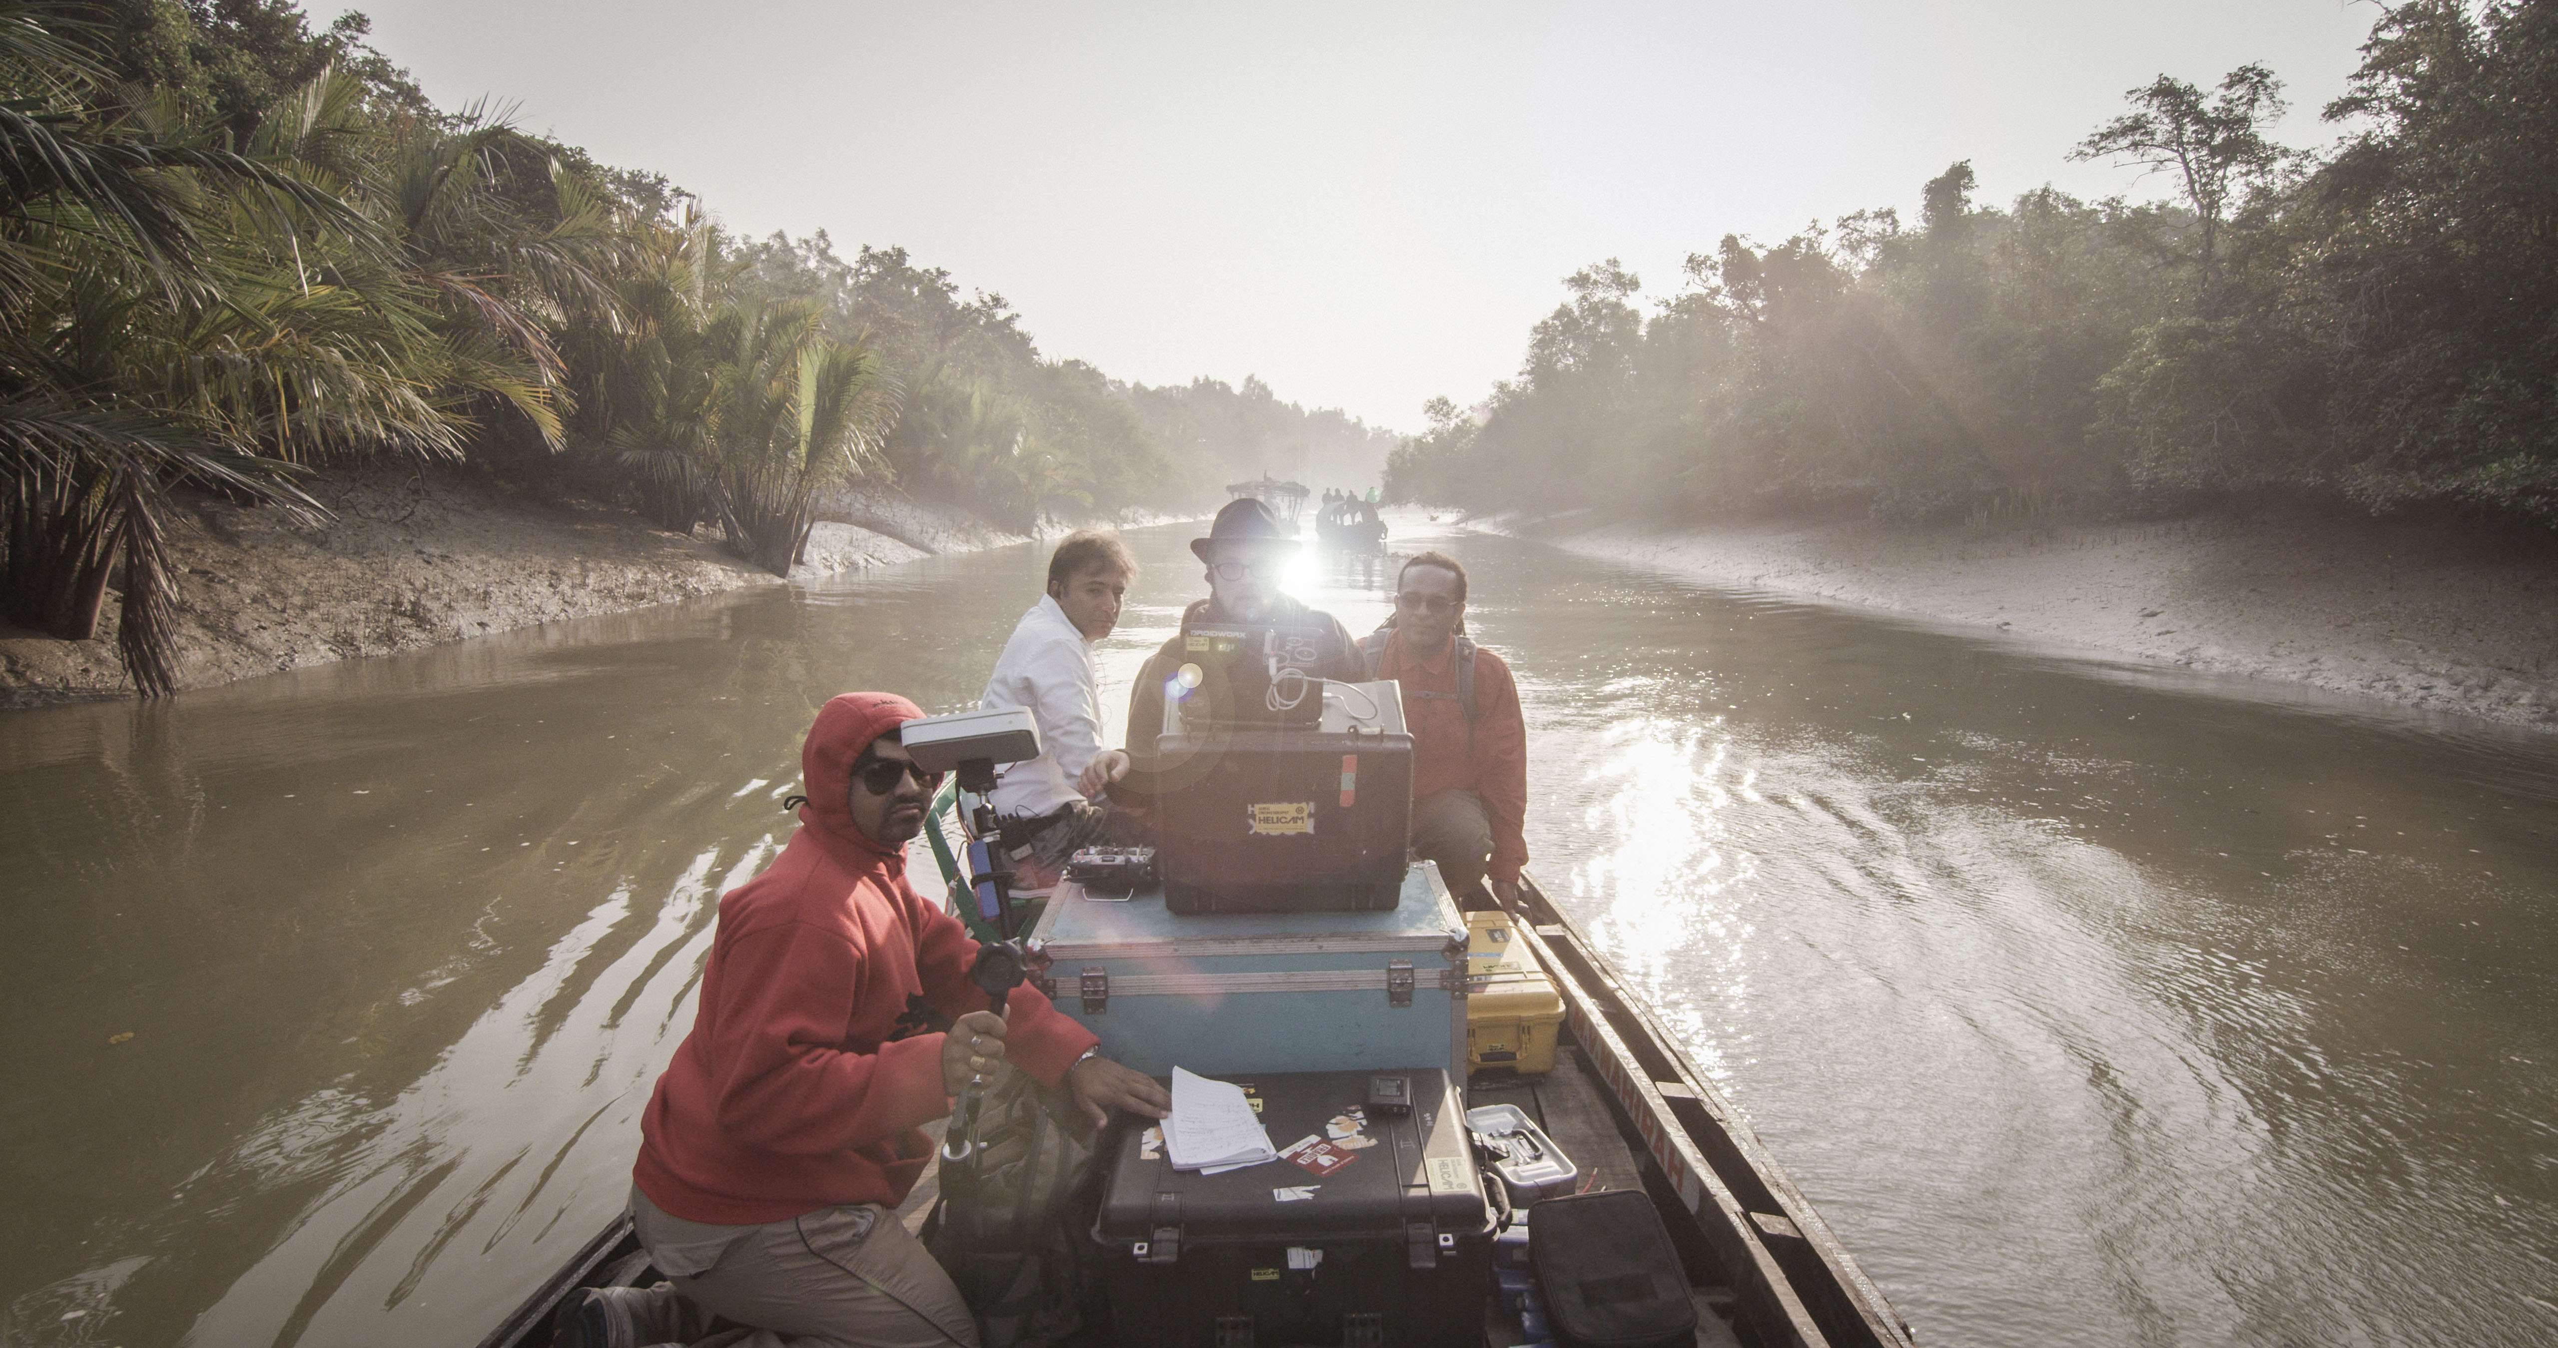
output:
[[[1527,865],[1527,721],[1499,655],[1466,634],[1466,568],[1417,553],[1394,578],[1394,616],[1361,645],[1363,678],[1392,678],[1412,732],[1412,852],[1438,862],[1463,903],[1491,880],[1519,911]]]

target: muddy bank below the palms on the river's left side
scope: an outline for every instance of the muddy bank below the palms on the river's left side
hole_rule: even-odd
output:
[[[780,583],[709,537],[463,473],[327,473],[312,494],[330,519],[217,496],[189,496],[171,514],[179,688]],[[808,540],[811,576],[1021,542],[888,491],[836,494],[824,514],[834,519]],[[113,596],[90,642],[0,627],[0,706],[125,696]]]

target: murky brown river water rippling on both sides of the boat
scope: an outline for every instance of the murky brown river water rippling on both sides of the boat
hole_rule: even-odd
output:
[[[2558,1340],[2558,737],[1443,542],[1532,867],[1921,1343]],[[972,703],[1041,568],[0,716],[0,1345],[473,1343],[622,1205],[816,706]]]

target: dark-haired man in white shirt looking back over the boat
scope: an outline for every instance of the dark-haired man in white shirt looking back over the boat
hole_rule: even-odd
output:
[[[1123,829],[1108,801],[1092,801],[1128,772],[1128,755],[1102,749],[1102,698],[1092,647],[1118,627],[1136,558],[1110,529],[1067,535],[1049,558],[1049,593],[1021,614],[1003,642],[982,709],[1018,706],[1039,721],[1039,757],[995,778],[995,816],[1016,857],[1033,862],[1023,893],[1054,882],[1077,847],[1113,842]]]

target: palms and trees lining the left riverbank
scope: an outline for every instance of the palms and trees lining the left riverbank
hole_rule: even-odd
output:
[[[174,686],[171,494],[325,514],[422,458],[785,573],[829,489],[1013,527],[1392,437],[1259,381],[1138,389],[903,248],[737,238],[657,174],[437,110],[292,0],[0,0],[0,616]],[[1228,407],[1238,404],[1238,407]],[[1238,414],[1241,409],[1241,414]],[[1187,419],[1184,419],[1187,417]]]

